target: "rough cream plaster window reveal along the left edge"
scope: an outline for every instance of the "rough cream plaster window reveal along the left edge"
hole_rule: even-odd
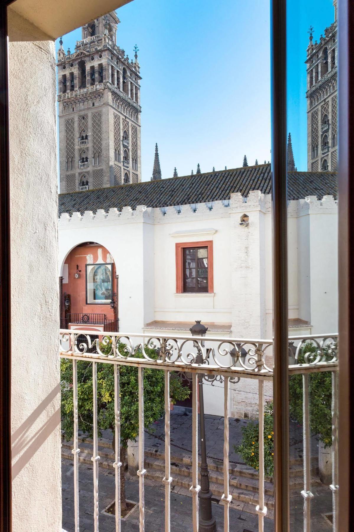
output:
[[[61,530],[54,42],[9,9],[12,512]]]

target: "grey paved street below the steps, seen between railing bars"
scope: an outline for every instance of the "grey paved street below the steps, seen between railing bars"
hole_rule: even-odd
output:
[[[92,467],[79,464],[79,501],[80,501],[80,532],[93,532],[93,482]],[[107,516],[102,511],[114,500],[114,471],[99,470],[99,530],[100,532],[114,532],[114,516]],[[127,498],[139,500],[138,478],[127,478]],[[311,501],[312,522],[311,532],[326,532],[332,530],[331,525],[324,519],[323,513],[331,511],[332,500],[329,488],[318,487],[313,490]],[[246,505],[232,504],[230,508],[230,532],[257,532],[258,517],[244,511]],[[303,532],[302,520],[303,499],[295,495],[290,498],[290,530]],[[74,530],[74,501],[73,501],[73,463],[62,460],[62,510],[63,530]],[[217,521],[217,531],[223,530],[223,506],[213,503],[213,515]],[[274,522],[266,518],[264,532],[274,531]],[[139,530],[139,509],[136,508],[126,521],[122,521],[122,532]],[[164,530],[164,486],[159,487],[154,481],[145,481],[145,530],[158,532]],[[192,499],[178,493],[171,493],[171,531],[192,531]]]

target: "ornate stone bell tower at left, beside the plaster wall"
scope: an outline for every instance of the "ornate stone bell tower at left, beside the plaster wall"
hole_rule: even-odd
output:
[[[60,192],[141,181],[140,65],[116,45],[115,12],[57,54]]]

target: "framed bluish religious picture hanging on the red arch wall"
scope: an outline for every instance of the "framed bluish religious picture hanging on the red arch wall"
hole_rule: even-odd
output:
[[[112,301],[113,264],[86,264],[86,304],[105,305]]]

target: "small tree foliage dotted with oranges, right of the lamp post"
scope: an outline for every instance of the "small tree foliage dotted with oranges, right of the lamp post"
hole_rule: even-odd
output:
[[[259,423],[250,421],[242,428],[242,443],[234,445],[235,452],[239,453],[245,463],[254,469],[259,468]],[[273,476],[273,403],[266,403],[264,408],[264,471],[268,477]]]

